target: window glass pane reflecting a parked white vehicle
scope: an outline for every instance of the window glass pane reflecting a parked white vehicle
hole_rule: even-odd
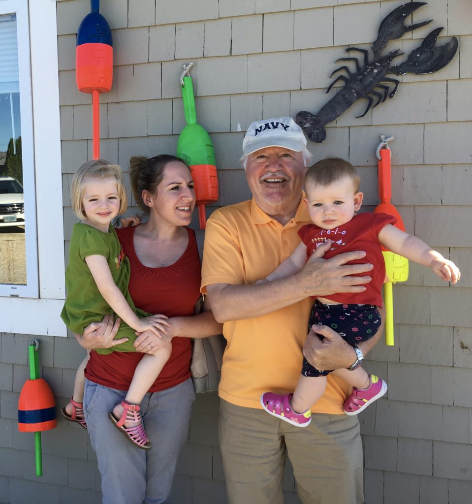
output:
[[[0,284],[26,285],[17,22],[0,16]]]

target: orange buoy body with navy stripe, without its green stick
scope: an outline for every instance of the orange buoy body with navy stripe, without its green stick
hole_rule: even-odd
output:
[[[27,380],[18,401],[18,430],[40,432],[56,425],[55,400],[49,385],[42,378]]]

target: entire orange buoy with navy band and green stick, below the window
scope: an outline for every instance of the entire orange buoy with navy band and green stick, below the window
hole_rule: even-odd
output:
[[[21,389],[18,401],[18,430],[34,432],[36,476],[42,476],[41,431],[56,427],[56,403],[49,385],[39,377],[39,341],[28,346],[30,380]]]

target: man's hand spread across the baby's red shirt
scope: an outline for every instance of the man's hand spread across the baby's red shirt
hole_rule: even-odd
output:
[[[346,252],[331,259],[322,259],[331,247],[331,240],[320,245],[297,273],[300,286],[307,296],[328,296],[336,292],[364,292],[370,276],[352,276],[370,271],[372,264],[346,264],[365,257],[363,251]],[[324,369],[324,368],[321,368]]]

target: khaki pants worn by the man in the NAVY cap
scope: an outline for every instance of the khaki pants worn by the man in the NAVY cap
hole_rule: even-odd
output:
[[[283,504],[286,455],[304,504],[364,502],[355,416],[315,413],[301,428],[221,400],[220,447],[230,504]]]

